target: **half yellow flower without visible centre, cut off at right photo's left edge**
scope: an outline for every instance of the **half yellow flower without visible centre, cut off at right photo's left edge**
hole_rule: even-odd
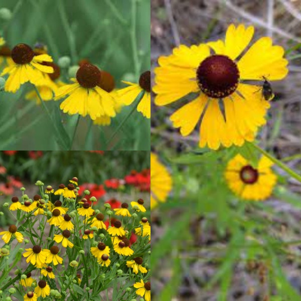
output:
[[[165,202],[172,190],[172,177],[167,168],[158,160],[154,153],[150,154],[150,208],[153,209],[158,202]]]

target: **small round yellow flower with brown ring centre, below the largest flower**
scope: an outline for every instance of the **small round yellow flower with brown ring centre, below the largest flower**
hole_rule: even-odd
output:
[[[271,170],[272,165],[268,158],[261,157],[258,167],[253,168],[245,158],[236,155],[225,171],[227,184],[242,199],[263,201],[271,195],[277,181]]]

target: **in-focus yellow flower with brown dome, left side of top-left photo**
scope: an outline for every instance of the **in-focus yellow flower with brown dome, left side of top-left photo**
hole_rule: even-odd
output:
[[[11,57],[14,63],[6,67],[0,76],[9,74],[5,84],[5,91],[16,92],[26,82],[41,85],[44,81],[43,73],[53,73],[51,66],[43,65],[52,62],[48,54],[35,55],[32,48],[26,44],[18,44],[12,50]]]

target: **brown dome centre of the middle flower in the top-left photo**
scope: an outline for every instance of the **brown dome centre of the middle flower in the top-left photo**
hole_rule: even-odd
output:
[[[76,79],[84,88],[94,88],[101,78],[100,70],[91,64],[84,64],[77,70]]]

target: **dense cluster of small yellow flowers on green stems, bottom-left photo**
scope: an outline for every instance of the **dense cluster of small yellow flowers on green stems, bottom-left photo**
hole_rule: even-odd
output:
[[[5,274],[20,260],[27,265],[18,264],[13,279],[0,276],[2,293],[22,295],[25,301],[90,299],[120,276],[118,299],[139,295],[150,300],[150,224],[144,201],[118,203],[117,208],[106,202],[96,209],[87,187],[79,197],[76,177],[56,188],[44,188],[41,181],[36,185],[40,194],[32,199],[22,187],[22,196],[5,204],[16,223],[0,232],[5,243],[0,269]]]

